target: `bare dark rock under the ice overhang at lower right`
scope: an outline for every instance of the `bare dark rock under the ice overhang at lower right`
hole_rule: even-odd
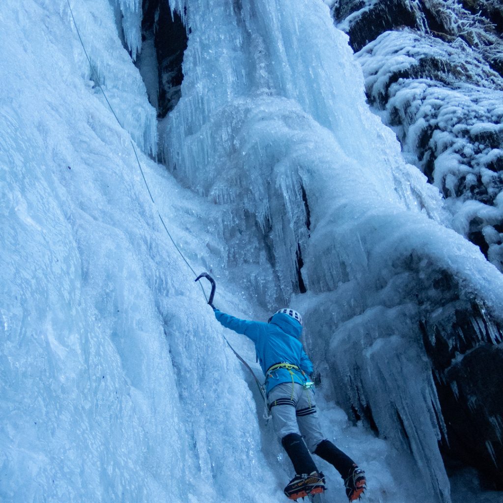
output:
[[[444,306],[450,316],[420,322],[447,431],[441,452],[503,490],[503,329],[476,303],[451,305]]]

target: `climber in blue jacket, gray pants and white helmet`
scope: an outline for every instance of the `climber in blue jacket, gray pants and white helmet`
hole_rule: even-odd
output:
[[[285,494],[290,499],[297,499],[324,491],[325,479],[318,471],[311,451],[331,463],[341,474],[349,500],[358,499],[366,489],[365,472],[320,430],[313,382],[309,377],[313,365],[300,341],[300,314],[290,308],[280,309],[264,323],[239,319],[213,309],[223,326],[244,334],[255,343],[266,375],[267,404],[274,430],[295,469],[295,476],[285,487]]]

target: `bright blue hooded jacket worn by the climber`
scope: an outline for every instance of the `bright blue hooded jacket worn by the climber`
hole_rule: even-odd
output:
[[[301,369],[292,369],[293,375],[284,368],[266,375],[266,393],[283,382],[304,384],[313,371],[313,364],[300,342],[302,325],[288,314],[275,314],[270,323],[247,321],[215,309],[215,317],[226,328],[242,333],[255,343],[255,351],[264,374],[277,363],[290,363]]]

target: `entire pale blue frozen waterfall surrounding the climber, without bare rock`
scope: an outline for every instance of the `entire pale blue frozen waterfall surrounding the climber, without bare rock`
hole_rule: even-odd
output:
[[[171,4],[190,29],[182,97],[159,134],[177,181],[147,156],[156,112],[130,58],[139,4],[72,6],[122,127],[66,2],[7,0],[0,14],[0,498],[283,498],[288,461],[158,210],[218,277],[219,307],[303,311],[328,382],[325,431],[367,469],[368,500],[449,501],[416,322],[443,301],[451,313],[446,284],[498,321],[503,281],[442,225],[437,189],[368,110],[327,5]],[[351,427],[334,397],[371,408],[387,441]]]

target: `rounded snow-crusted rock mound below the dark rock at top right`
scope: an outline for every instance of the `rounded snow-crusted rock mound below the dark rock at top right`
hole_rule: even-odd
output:
[[[384,33],[358,60],[371,101],[384,108],[407,159],[442,192],[453,228],[503,270],[503,79],[461,40],[407,31]]]

